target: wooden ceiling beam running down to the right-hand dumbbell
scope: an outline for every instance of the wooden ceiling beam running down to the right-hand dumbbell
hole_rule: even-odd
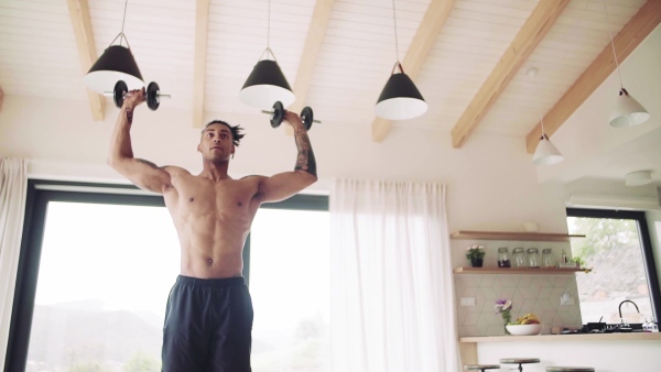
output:
[[[299,63],[296,81],[294,81],[294,95],[296,95],[296,100],[288,108],[289,111],[300,113],[305,105],[307,90],[310,89],[310,84],[312,83],[312,76],[314,74],[314,67],[319,58],[322,43],[326,36],[326,29],[328,28],[333,4],[335,4],[335,0],[317,0],[314,6],[310,28],[307,29],[307,36],[305,37],[305,45],[303,46],[303,53],[301,54],[301,62]],[[290,125],[284,125],[284,128],[286,134],[294,134],[294,131]]]

